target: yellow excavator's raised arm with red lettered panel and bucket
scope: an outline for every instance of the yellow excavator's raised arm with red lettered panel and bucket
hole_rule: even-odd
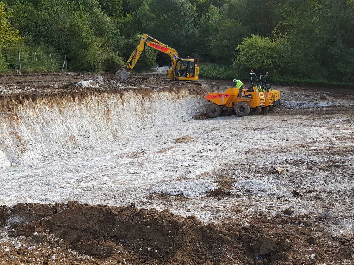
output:
[[[150,39],[150,40],[149,40]],[[116,76],[127,79],[130,72],[133,70],[135,64],[139,60],[142,52],[145,49],[145,45],[148,45],[160,52],[166,53],[171,57],[172,61],[172,69],[175,68],[176,61],[178,59],[178,53],[175,49],[165,45],[164,43],[154,39],[153,37],[144,34],[139,42],[139,45],[135,48],[133,53],[130,55],[129,59],[127,60],[126,66],[123,70],[117,71]]]

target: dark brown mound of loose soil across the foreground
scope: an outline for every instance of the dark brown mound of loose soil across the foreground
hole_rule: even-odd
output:
[[[10,251],[0,251],[0,264],[48,264],[56,254],[56,264],[302,265],[353,255],[353,248],[336,242],[306,216],[260,215],[247,223],[202,224],[195,216],[138,210],[134,204],[0,206],[0,229],[27,245],[15,249],[12,240],[2,242]],[[36,249],[28,250],[33,245]],[[308,258],[312,253],[315,260]]]

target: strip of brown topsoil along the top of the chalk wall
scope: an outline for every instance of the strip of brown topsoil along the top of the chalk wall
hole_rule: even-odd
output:
[[[121,94],[124,91],[151,92],[153,89],[179,92],[187,89],[192,95],[207,94],[208,91],[199,83],[188,83],[184,81],[168,81],[163,77],[130,76],[128,80],[121,80],[114,75],[104,75],[104,83],[99,87],[76,86],[81,80],[95,80],[97,75],[91,74],[34,74],[25,76],[0,76],[0,97],[1,96],[36,96],[36,95],[57,95],[76,94],[82,92],[116,92]],[[111,82],[111,81],[114,82]],[[1,88],[3,86],[4,88]]]

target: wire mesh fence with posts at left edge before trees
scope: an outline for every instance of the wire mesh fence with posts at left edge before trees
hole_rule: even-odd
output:
[[[66,56],[36,52],[0,51],[0,72],[56,72],[67,70]]]

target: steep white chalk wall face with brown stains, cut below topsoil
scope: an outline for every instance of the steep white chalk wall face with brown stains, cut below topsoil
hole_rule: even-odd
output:
[[[205,104],[187,89],[0,97],[0,169],[65,157],[148,126],[191,119]]]

